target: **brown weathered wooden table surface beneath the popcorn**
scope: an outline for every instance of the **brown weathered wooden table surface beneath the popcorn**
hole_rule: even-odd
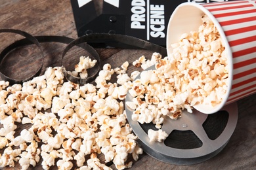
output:
[[[102,7],[101,4],[102,1],[95,1],[98,11]],[[21,29],[32,35],[63,35],[77,38],[70,0],[1,0],[0,29],[2,28]],[[1,50],[15,41],[15,38],[10,35],[2,33],[0,36]],[[59,66],[60,54],[65,45],[49,42],[42,46],[46,58],[43,70],[49,66]],[[150,58],[152,54],[147,50],[109,48],[96,50],[102,62],[111,63],[112,67],[119,67],[124,61],[131,63],[142,55]],[[133,163],[131,169],[256,169],[256,94],[238,101],[238,110],[238,124],[230,141],[217,156],[210,160],[196,165],[171,165],[144,153],[139,156],[138,161]],[[114,165],[110,167],[116,169]],[[3,169],[13,168],[4,167]],[[18,163],[14,169],[20,169]],[[36,169],[42,169],[40,163]]]

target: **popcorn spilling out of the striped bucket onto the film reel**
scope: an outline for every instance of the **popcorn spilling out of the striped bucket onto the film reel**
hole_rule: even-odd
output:
[[[173,52],[156,63],[156,70],[142,71],[129,93],[134,97],[127,106],[134,110],[134,121],[155,124],[148,131],[150,141],[163,141],[164,118],[176,120],[182,110],[192,112],[196,104],[213,107],[223,101],[228,78],[228,63],[219,32],[208,16],[202,16],[198,31],[181,35],[171,44]],[[139,65],[140,58],[133,65]]]

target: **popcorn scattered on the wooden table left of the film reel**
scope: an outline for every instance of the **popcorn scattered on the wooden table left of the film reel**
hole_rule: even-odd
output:
[[[82,56],[77,74],[95,60]],[[0,167],[18,162],[28,169],[41,160],[43,169],[116,169],[132,166],[143,150],[127,123],[123,99],[139,75],[128,76],[126,61],[112,69],[105,64],[94,84],[79,86],[64,79],[62,67],[23,84],[0,81]],[[91,66],[89,66],[91,67]],[[112,75],[117,82],[108,82]],[[17,124],[28,127],[17,131]],[[99,158],[104,158],[104,162]],[[75,165],[74,165],[75,163]]]

